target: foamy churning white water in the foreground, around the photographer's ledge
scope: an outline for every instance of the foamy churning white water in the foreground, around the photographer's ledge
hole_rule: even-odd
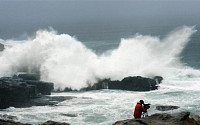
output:
[[[166,113],[189,111],[191,114],[200,115],[199,94],[199,91],[167,88],[151,92],[101,90],[83,93],[53,93],[52,96],[77,98],[61,102],[57,106],[9,108],[1,113],[17,116],[18,121],[32,124],[54,120],[71,125],[111,125],[118,120],[133,118],[134,106],[140,99],[143,99],[145,103],[151,103],[149,115],[163,113],[155,109],[157,105],[180,106],[179,109],[166,111]]]

